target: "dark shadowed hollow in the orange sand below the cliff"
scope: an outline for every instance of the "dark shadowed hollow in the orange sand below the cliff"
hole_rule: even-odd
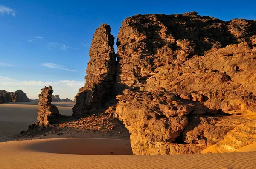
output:
[[[132,155],[130,140],[60,138],[29,145],[28,149],[57,154]]]

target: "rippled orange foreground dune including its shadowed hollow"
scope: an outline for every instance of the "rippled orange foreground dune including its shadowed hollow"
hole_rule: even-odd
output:
[[[0,154],[2,155],[0,168],[254,169],[256,167],[256,152],[196,155],[120,155],[124,154],[125,151],[126,154],[129,153],[130,146],[126,145],[128,142],[127,140],[86,138],[3,142],[0,143]],[[49,147],[50,145],[52,148]],[[108,154],[110,151],[113,154],[77,155],[56,153],[58,149],[60,153],[74,149],[72,153],[75,153],[74,151],[79,146],[81,146],[84,154],[91,153],[92,150],[96,154]],[[52,149],[55,153],[51,152]]]

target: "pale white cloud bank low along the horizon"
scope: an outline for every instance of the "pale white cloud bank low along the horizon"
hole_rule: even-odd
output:
[[[30,99],[38,99],[41,88],[51,85],[54,93],[59,94],[61,99],[74,99],[79,88],[84,86],[84,81],[61,80],[56,82],[43,82],[35,80],[16,80],[9,77],[0,76],[0,86],[2,90],[15,92],[23,90]]]

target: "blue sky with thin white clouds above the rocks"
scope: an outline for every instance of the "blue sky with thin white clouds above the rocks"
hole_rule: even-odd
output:
[[[197,11],[221,20],[256,20],[255,6],[253,0],[0,0],[0,89],[37,99],[42,87],[52,85],[54,94],[73,99],[84,85],[90,43],[102,23],[116,37],[134,14]]]

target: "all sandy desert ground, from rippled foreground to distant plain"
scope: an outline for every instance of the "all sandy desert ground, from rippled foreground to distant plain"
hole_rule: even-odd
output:
[[[60,113],[71,115],[71,104],[58,105]],[[65,107],[64,107],[64,106]],[[43,135],[21,139],[12,138],[35,122],[37,105],[27,103],[0,104],[0,169],[52,169],[52,168],[109,168],[109,169],[255,169],[256,144],[241,147],[236,153],[216,154],[215,146],[195,155],[132,155],[130,141],[125,131],[87,132],[82,120],[73,122],[72,130],[61,128]],[[86,119],[96,121],[97,117]],[[83,125],[82,125],[83,124]],[[81,125],[82,129],[79,129]],[[89,129],[96,124],[90,123]],[[111,125],[110,125],[111,126]],[[97,127],[94,126],[94,127]],[[64,126],[64,129],[66,127]],[[88,127],[87,127],[88,128]],[[120,129],[121,130],[121,129]],[[70,131],[70,132],[69,132]],[[62,138],[60,138],[62,137]],[[84,137],[84,138],[70,138]],[[99,138],[98,138],[99,137]],[[49,139],[45,139],[49,138]],[[104,138],[104,139],[102,139]],[[106,139],[106,138],[121,138]],[[17,139],[17,138],[16,138]],[[209,153],[211,152],[211,153]]]

